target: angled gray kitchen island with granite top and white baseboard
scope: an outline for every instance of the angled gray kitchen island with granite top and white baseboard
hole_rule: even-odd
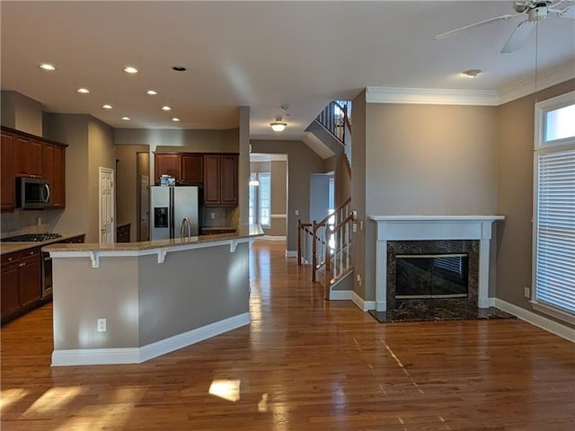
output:
[[[56,244],[52,365],[141,363],[250,323],[249,245],[263,232]]]

